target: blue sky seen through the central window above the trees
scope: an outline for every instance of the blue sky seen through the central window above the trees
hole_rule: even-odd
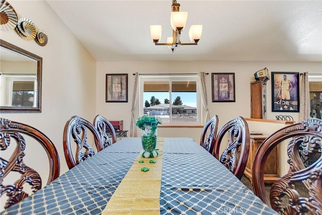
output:
[[[144,103],[147,100],[150,102],[151,97],[154,96],[155,99],[158,99],[161,104],[165,103],[165,99],[170,100],[170,95],[168,92],[144,92],[143,93],[143,107]],[[172,93],[172,102],[180,96],[183,105],[187,105],[190,107],[197,107],[197,93],[196,92],[173,92]]]

